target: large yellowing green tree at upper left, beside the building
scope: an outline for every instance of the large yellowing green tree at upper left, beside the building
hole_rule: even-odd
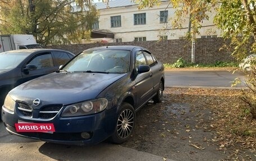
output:
[[[33,34],[38,43],[68,44],[88,38],[98,11],[88,0],[0,1],[1,34]],[[83,10],[86,4],[86,12]],[[76,9],[72,5],[77,4]]]

